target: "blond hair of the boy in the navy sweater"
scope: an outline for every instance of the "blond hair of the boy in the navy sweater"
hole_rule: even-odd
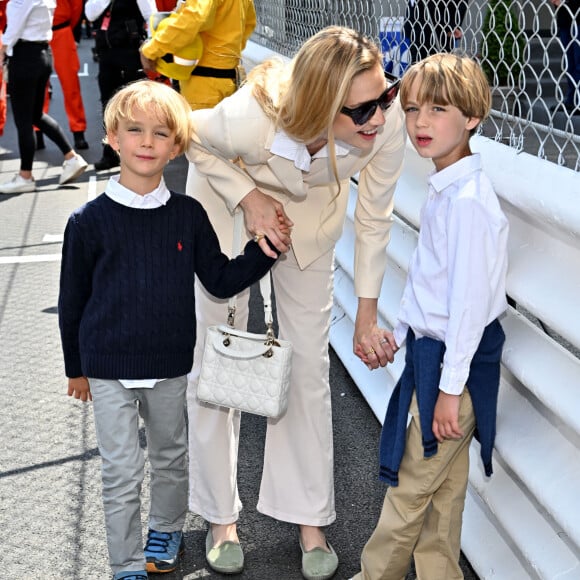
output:
[[[105,131],[116,133],[121,120],[134,121],[135,110],[141,110],[175,133],[179,154],[189,146],[193,134],[191,107],[173,88],[163,83],[142,80],[129,83],[111,97],[105,107]]]

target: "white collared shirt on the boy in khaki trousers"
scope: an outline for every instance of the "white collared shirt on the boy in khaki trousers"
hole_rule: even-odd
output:
[[[479,154],[434,173],[394,334],[445,343],[440,390],[463,391],[485,327],[507,308],[508,221]]]

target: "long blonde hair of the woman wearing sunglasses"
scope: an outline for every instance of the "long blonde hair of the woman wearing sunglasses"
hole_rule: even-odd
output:
[[[304,143],[328,139],[339,192],[332,126],[353,79],[376,66],[382,66],[381,53],[370,39],[351,28],[329,26],[310,37],[290,65],[269,60],[248,75],[254,97],[279,129]]]

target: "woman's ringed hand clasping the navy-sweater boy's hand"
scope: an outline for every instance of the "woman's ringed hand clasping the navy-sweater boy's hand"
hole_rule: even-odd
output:
[[[292,226],[294,223],[286,215],[284,206],[259,189],[252,189],[240,202],[244,210],[246,229],[254,236],[266,256],[276,258],[270,249],[266,236],[279,252],[290,249]]]

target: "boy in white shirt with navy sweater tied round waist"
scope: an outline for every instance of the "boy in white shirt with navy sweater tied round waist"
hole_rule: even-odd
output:
[[[398,322],[383,339],[393,350],[406,340],[407,351],[381,435],[380,477],[390,487],[355,579],[401,580],[413,555],[419,580],[454,580],[463,578],[461,519],[476,429],[492,472],[508,222],[469,147],[491,101],[479,65],[430,56],[405,74],[400,95],[409,138],[435,172]]]

